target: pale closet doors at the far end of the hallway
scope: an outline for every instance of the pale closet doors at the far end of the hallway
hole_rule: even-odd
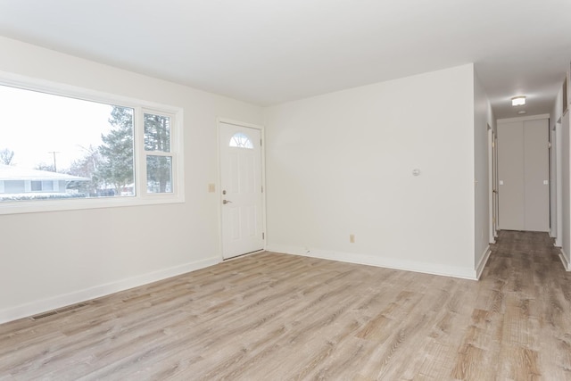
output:
[[[498,123],[501,229],[549,231],[547,119]]]

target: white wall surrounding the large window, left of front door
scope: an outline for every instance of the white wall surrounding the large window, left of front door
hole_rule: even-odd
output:
[[[220,261],[216,118],[261,124],[260,107],[4,37],[0,51],[2,71],[183,107],[186,190],[186,203],[0,215],[0,322]]]

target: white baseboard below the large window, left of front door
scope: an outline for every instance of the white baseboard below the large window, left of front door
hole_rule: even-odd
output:
[[[166,279],[168,277],[176,277],[196,269],[203,269],[205,267],[219,263],[220,258],[208,258],[202,261],[194,261],[171,267],[169,269],[161,269],[150,273],[142,274],[137,277],[129,277],[127,279],[120,279],[116,282],[106,283],[104,285],[93,286],[83,290],[74,291],[70,294],[56,295],[50,298],[38,300],[35,302],[28,302],[14,307],[9,307],[0,310],[0,324],[7,321],[26,318],[36,315],[40,312],[52,311],[70,304],[78,302],[86,302],[91,299],[99,298],[104,295],[117,293],[119,291],[128,290],[129,288],[143,286],[158,280]]]

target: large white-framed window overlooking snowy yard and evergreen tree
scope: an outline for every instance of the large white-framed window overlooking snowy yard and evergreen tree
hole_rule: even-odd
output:
[[[0,213],[183,201],[182,111],[0,78]]]

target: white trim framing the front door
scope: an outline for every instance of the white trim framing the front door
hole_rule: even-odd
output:
[[[265,135],[265,128],[264,126],[260,126],[257,124],[252,124],[252,123],[246,123],[243,121],[238,121],[238,120],[231,120],[231,119],[227,119],[227,118],[217,118],[216,119],[216,152],[217,152],[217,156],[218,156],[218,178],[217,178],[217,186],[216,186],[216,194],[217,194],[217,203],[218,203],[218,252],[219,252],[219,259],[220,261],[231,261],[234,258],[239,258],[242,255],[238,255],[236,257],[232,257],[232,258],[228,258],[225,259],[224,258],[224,253],[222,253],[222,190],[221,190],[221,186],[222,186],[222,170],[221,170],[221,165],[222,165],[222,159],[220,157],[220,146],[219,146],[219,141],[220,141],[220,123],[225,123],[225,124],[233,124],[235,126],[239,126],[239,127],[245,127],[245,128],[254,128],[254,129],[258,129],[260,130],[260,137],[261,137],[261,186],[263,186],[263,193],[261,194],[261,228],[262,228],[262,232],[263,232],[263,250],[261,251],[265,251],[266,247],[268,245],[268,229],[266,228],[266,193],[267,193],[267,187],[266,187],[266,135]],[[252,253],[260,253],[261,251],[258,252],[252,252]],[[249,253],[244,253],[244,255],[249,254]]]

